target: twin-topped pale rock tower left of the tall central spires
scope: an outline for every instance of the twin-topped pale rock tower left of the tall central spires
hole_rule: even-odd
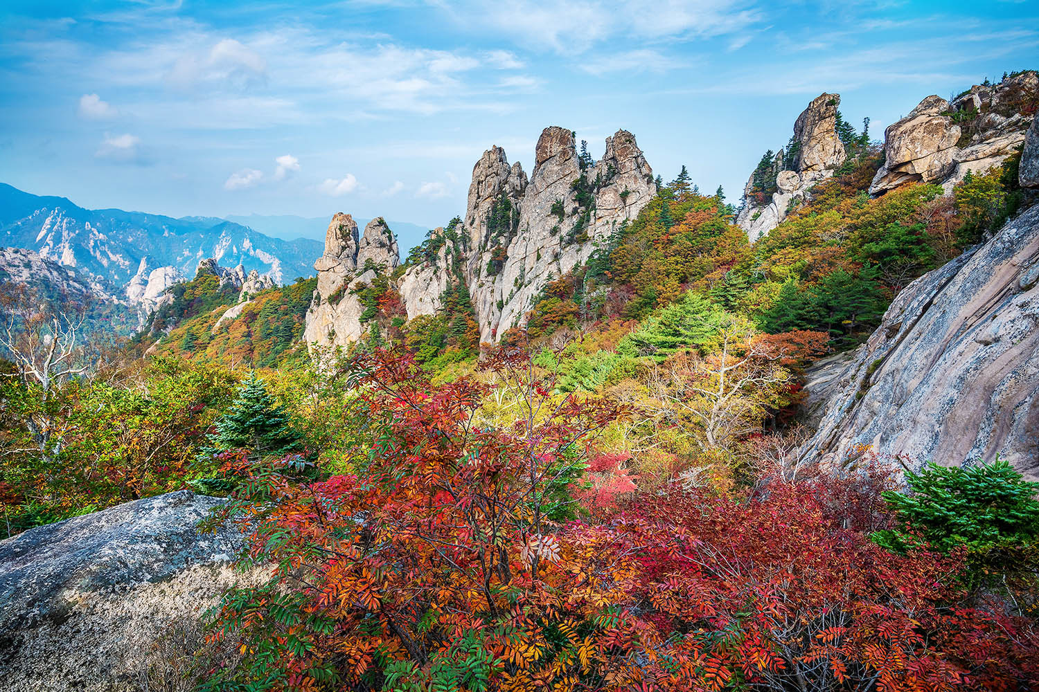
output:
[[[314,262],[318,286],[307,311],[303,338],[308,343],[345,345],[365,332],[361,316],[365,306],[355,292],[378,274],[393,272],[400,264],[397,240],[379,217],[357,237],[349,214],[332,217],[325,233],[325,251]]]

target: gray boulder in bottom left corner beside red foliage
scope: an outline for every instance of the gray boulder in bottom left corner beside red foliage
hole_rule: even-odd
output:
[[[0,542],[0,688],[139,689],[170,624],[196,621],[236,579],[237,530],[195,529],[221,502],[181,491]]]

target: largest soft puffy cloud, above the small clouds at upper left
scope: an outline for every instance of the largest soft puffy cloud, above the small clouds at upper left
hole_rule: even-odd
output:
[[[259,53],[234,38],[217,40],[208,51],[182,55],[167,75],[182,89],[208,87],[244,90],[267,79],[267,62]]]

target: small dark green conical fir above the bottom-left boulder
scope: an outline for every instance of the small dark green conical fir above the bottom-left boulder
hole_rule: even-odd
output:
[[[285,410],[267,393],[263,380],[249,373],[238,388],[234,403],[207,436],[208,454],[248,449],[255,456],[284,456],[300,451],[299,434],[289,423]]]

